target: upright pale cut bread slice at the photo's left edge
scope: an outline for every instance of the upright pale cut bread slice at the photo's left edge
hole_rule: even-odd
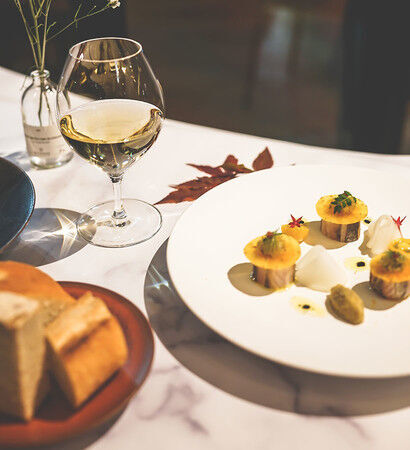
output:
[[[30,420],[48,390],[41,307],[0,292],[0,411]]]

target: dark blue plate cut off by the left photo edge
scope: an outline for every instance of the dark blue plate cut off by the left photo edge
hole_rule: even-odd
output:
[[[33,183],[24,170],[0,158],[0,251],[27,225],[35,198]]]

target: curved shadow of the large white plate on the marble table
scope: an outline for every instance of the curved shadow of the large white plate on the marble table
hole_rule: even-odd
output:
[[[166,264],[167,244],[165,241],[159,248],[148,268],[146,310],[167,350],[203,380],[250,402],[308,415],[376,414],[410,405],[410,377],[320,375],[266,360],[231,344],[199,320],[176,293]]]

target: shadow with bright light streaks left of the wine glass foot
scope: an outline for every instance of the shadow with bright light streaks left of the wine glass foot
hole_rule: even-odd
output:
[[[20,236],[0,253],[0,261],[43,266],[77,253],[87,245],[77,234],[78,217],[68,209],[36,208]]]

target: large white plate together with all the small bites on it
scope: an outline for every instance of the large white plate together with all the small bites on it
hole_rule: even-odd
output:
[[[300,180],[298,189],[285,188],[290,179]],[[261,356],[343,376],[410,374],[402,356],[410,353],[407,262],[400,266],[410,229],[398,195],[409,190],[405,177],[340,166],[275,168],[234,180],[177,223],[167,255],[172,280],[205,323]],[[307,228],[300,234],[298,221]],[[401,255],[394,256],[400,269],[386,275],[379,268],[384,289],[371,262],[380,252],[385,268]]]

